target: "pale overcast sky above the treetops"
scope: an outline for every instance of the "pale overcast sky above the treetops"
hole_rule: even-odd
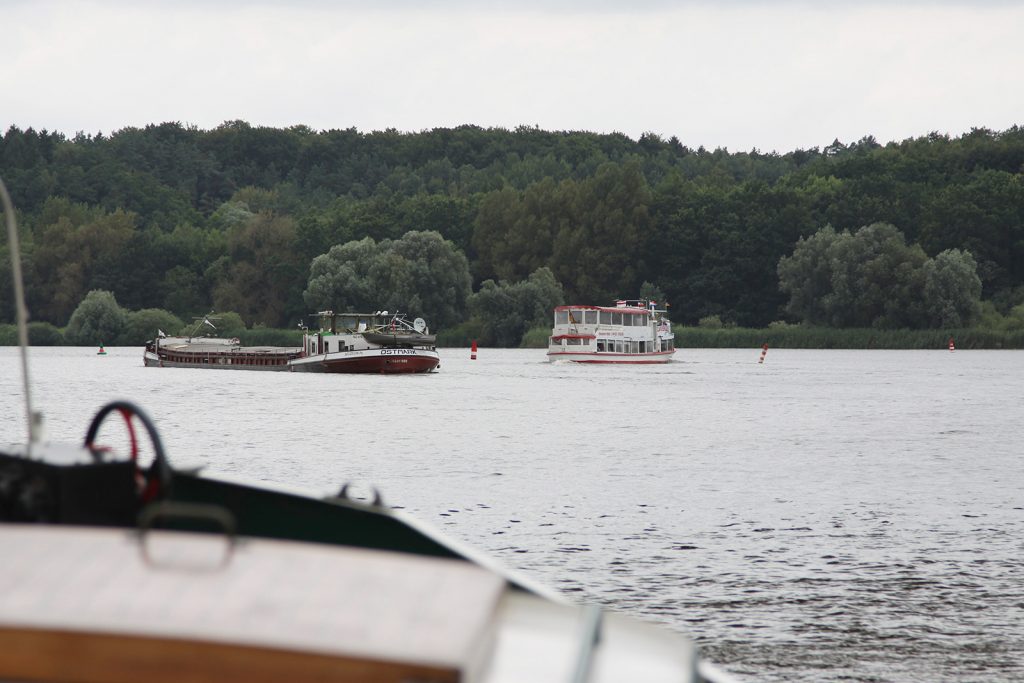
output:
[[[2,130],[527,125],[784,153],[1024,124],[1024,1],[0,0],[0,27]]]

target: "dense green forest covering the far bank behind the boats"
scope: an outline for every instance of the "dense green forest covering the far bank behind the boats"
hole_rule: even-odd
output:
[[[0,177],[32,317],[56,327],[92,291],[181,319],[236,311],[250,327],[294,328],[329,305],[455,326],[485,318],[484,302],[526,314],[645,283],[686,325],[1024,317],[1020,127],[787,154],[528,127],[11,127]]]

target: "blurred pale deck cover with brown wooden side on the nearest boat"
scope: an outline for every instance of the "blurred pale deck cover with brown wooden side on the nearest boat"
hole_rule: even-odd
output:
[[[698,680],[685,638],[459,560],[39,524],[0,547],[0,680]]]

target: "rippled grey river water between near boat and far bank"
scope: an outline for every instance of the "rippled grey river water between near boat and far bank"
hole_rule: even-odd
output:
[[[31,351],[52,440],[129,398],[175,466],[377,487],[744,680],[1024,680],[1024,352],[442,349],[435,374],[364,377],[108,351]],[[0,443],[23,441],[14,348],[0,391]]]

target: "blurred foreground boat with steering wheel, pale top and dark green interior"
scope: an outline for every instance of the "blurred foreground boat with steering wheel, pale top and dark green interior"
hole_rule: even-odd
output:
[[[125,458],[94,442],[118,415],[150,466],[134,429]],[[0,582],[18,587],[0,679],[728,680],[686,638],[570,604],[380,500],[175,470],[124,401],[83,445],[0,450]]]

